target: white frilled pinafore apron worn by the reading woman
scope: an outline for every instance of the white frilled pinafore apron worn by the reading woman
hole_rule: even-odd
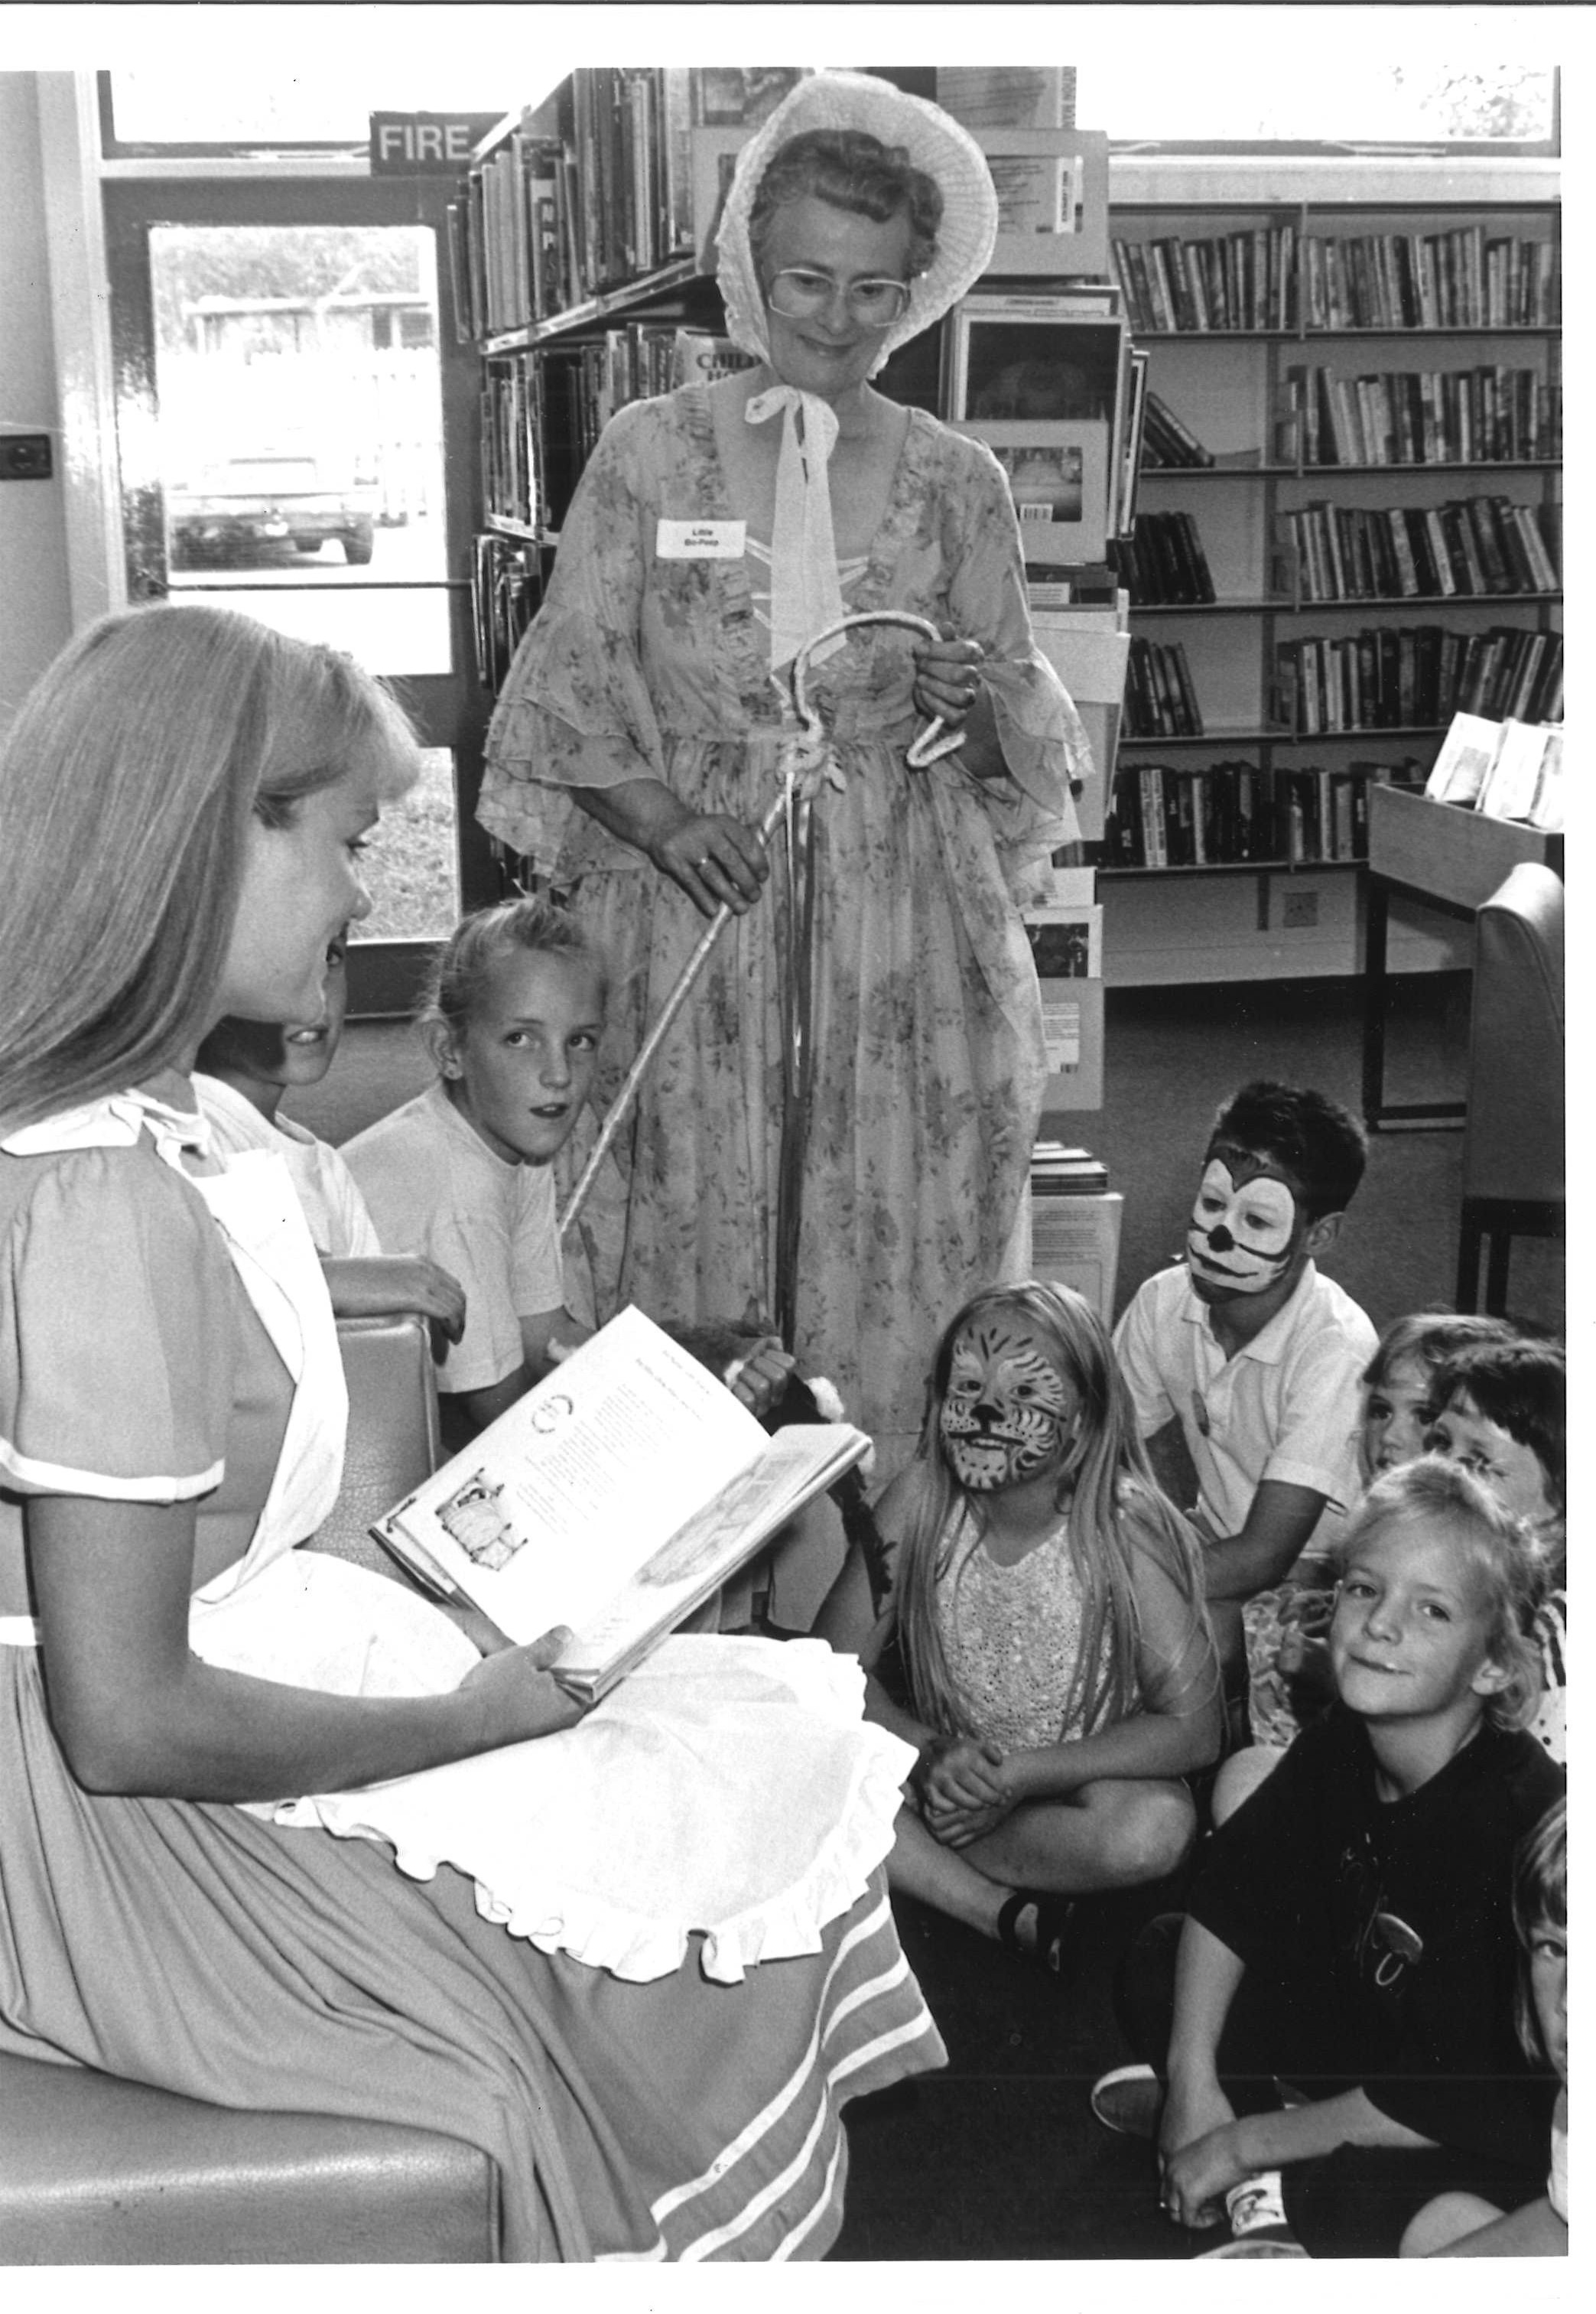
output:
[[[446,1615],[384,1576],[294,1548],[338,1499],[347,1393],[282,1159],[261,1150],[194,1176],[183,1148],[206,1145],[204,1120],[143,1092],[32,1127],[28,1152],[132,1145],[146,1129],[204,1196],[294,1379],[250,1548],[194,1594],[194,1652],[331,1694],[451,1692],[479,1655]],[[16,1622],[0,1643],[35,1638]],[[453,1865],[483,1918],[539,1951],[645,1983],[673,1974],[699,1932],[703,1972],[736,1983],[759,1960],[817,1953],[893,1844],[914,1752],[863,1722],[863,1694],[858,1661],[821,1641],[678,1634],[562,1733],[359,1791],[241,1805],[377,1840],[414,1879]]]

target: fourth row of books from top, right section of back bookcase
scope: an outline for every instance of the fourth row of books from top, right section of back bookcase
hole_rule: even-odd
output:
[[[1457,710],[1561,722],[1564,639],[1540,627],[1365,627],[1274,653],[1274,713],[1298,734],[1443,724]]]

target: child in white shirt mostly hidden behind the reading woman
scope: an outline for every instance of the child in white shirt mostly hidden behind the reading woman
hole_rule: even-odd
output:
[[[349,935],[326,951],[326,1011],[319,1020],[289,1023],[224,1018],[199,1046],[194,1092],[210,1122],[217,1157],[266,1150],[282,1157],[294,1194],[322,1254],[326,1289],[338,1317],[391,1317],[416,1310],[458,1342],[465,1294],[456,1277],[426,1254],[384,1254],[377,1224],[354,1173],[331,1143],[282,1115],[282,1097],[319,1085],[333,1067],[345,1030]]]

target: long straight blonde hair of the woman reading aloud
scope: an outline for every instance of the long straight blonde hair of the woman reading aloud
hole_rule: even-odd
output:
[[[354,659],[210,604],[86,627],[0,750],[0,1129],[120,1090],[210,1025],[250,817],[416,775]]]

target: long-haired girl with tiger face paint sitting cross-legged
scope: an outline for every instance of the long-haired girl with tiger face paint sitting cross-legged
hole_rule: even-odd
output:
[[[854,1553],[817,1634],[921,1752],[888,1881],[1059,1974],[1069,1900],[1175,1870],[1180,1782],[1219,1749],[1196,1541],[1136,1442],[1078,1294],[992,1287],[946,1328],[916,1460],[877,1506],[891,1592]]]

